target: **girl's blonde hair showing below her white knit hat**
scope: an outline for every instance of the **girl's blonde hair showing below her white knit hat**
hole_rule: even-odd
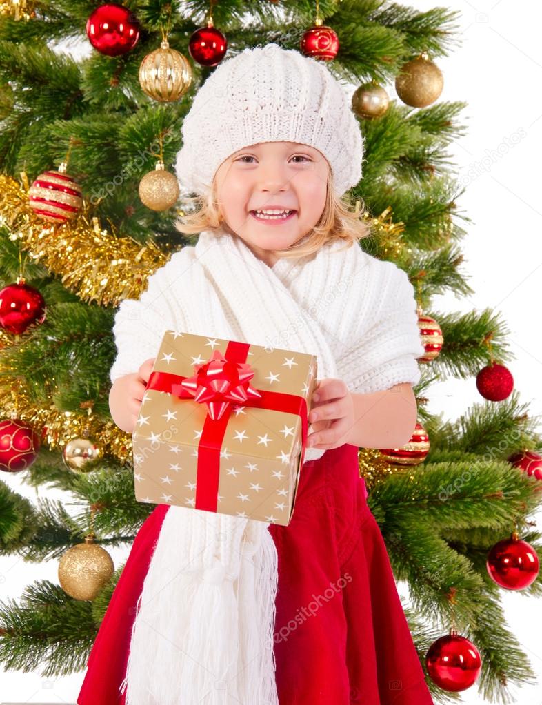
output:
[[[190,199],[196,205],[195,212],[181,216],[175,223],[176,229],[184,235],[195,235],[202,231],[216,232],[226,231],[230,235],[235,235],[222,216],[216,193],[216,180],[213,179],[210,192],[202,196],[195,196]],[[327,192],[325,205],[318,220],[312,230],[291,245],[286,250],[277,250],[276,257],[282,259],[293,259],[294,257],[306,257],[313,252],[320,250],[326,243],[335,240],[344,240],[347,245],[341,250],[346,250],[355,242],[366,238],[371,234],[371,226],[362,219],[363,203],[356,212],[355,204],[347,196],[339,196],[332,182],[331,170],[327,174]],[[222,234],[222,233],[221,233]]]

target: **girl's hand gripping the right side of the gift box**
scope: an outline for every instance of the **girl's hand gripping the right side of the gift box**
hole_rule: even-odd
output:
[[[308,422],[313,427],[307,437],[308,448],[331,450],[347,442],[354,426],[354,399],[342,379],[320,379]]]

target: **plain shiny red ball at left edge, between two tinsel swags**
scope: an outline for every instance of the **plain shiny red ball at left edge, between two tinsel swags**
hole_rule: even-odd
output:
[[[25,284],[23,276],[0,291],[0,326],[4,331],[19,335],[31,324],[42,324],[44,320],[44,298],[33,286]]]

